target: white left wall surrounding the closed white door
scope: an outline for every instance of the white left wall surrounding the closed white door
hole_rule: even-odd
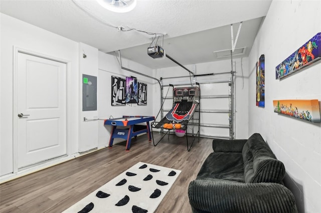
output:
[[[1,17],[1,140],[0,174],[13,172],[13,64],[14,46],[67,61],[68,153],[77,151],[78,43],[5,14]]]

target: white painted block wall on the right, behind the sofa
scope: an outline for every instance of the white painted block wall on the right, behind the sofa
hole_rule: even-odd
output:
[[[260,132],[287,172],[300,212],[321,212],[321,127],[273,112],[275,99],[321,99],[321,63],[281,80],[275,66],[321,31],[321,1],[274,0],[249,56],[249,134]],[[320,47],[318,47],[320,48]],[[265,54],[265,108],[255,106],[255,63]]]

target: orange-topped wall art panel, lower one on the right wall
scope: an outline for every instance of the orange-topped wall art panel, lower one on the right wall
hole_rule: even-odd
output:
[[[274,112],[307,120],[321,122],[320,105],[317,99],[312,100],[273,100]]]

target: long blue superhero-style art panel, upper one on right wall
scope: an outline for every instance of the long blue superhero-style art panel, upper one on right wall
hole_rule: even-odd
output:
[[[275,67],[275,78],[289,75],[321,59],[321,32],[316,33]]]

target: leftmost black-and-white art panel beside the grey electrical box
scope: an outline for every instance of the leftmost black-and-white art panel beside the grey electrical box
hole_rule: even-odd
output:
[[[111,105],[126,105],[125,102],[126,79],[111,76]]]

